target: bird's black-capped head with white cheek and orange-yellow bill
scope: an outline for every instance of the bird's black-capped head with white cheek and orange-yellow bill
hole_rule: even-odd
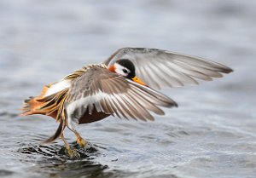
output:
[[[119,75],[131,79],[136,83],[146,85],[140,78],[137,78],[135,73],[135,66],[131,60],[117,60],[115,63],[113,63],[113,65],[109,66],[109,71],[118,73]]]

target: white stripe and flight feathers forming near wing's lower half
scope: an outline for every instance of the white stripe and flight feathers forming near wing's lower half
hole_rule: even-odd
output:
[[[97,112],[116,114],[119,118],[154,120],[148,110],[163,115],[164,112],[157,106],[170,106],[172,103],[171,99],[165,95],[160,95],[153,89],[145,88],[130,80],[127,80],[127,82],[131,88],[125,93],[113,93],[109,95],[98,90],[94,95],[88,95],[69,103],[67,105],[68,118],[79,119],[86,110],[91,114],[94,108],[96,108]],[[150,90],[150,92],[148,93],[145,89]],[[112,113],[109,113],[109,110]]]

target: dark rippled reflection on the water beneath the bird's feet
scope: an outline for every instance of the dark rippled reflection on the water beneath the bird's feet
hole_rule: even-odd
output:
[[[79,148],[75,142],[71,144],[79,152],[79,158],[69,158],[64,146],[23,146],[18,152],[25,154],[26,159],[20,161],[35,164],[30,171],[49,177],[101,177],[107,165],[96,163],[94,159],[101,154],[96,146]]]

